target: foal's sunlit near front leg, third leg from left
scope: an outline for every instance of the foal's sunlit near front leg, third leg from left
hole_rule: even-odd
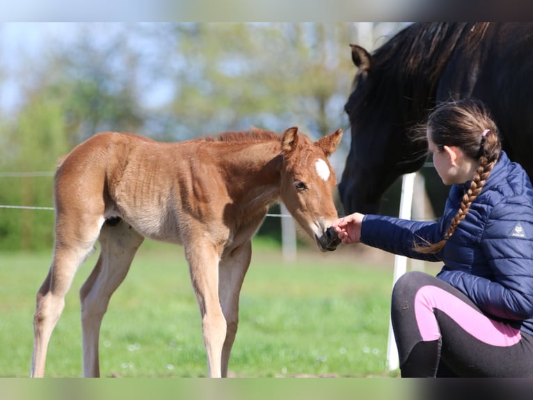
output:
[[[202,334],[207,352],[208,376],[220,378],[226,323],[220,300],[218,300],[219,252],[211,244],[191,243],[185,245],[185,256],[189,262],[191,283],[202,316]]]

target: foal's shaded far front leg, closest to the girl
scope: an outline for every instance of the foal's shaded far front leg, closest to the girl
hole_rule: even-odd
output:
[[[220,284],[218,296],[221,300],[222,311],[228,328],[226,329],[224,346],[222,348],[221,369],[222,376],[228,376],[230,353],[239,325],[239,294],[241,292],[244,275],[250,265],[252,246],[250,242],[235,249],[224,257],[218,268]]]

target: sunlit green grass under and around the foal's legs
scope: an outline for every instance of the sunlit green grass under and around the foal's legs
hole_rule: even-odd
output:
[[[100,336],[102,376],[200,377],[207,373],[200,314],[181,247],[145,243],[111,299]],[[388,376],[392,265],[353,252],[300,251],[257,243],[241,291],[232,376]],[[47,376],[81,376],[77,272],[51,338]],[[0,376],[28,376],[35,292],[51,254],[0,254]]]

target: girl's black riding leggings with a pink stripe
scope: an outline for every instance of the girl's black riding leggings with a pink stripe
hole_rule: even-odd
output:
[[[391,318],[401,376],[533,376],[533,337],[432,275],[398,279]]]

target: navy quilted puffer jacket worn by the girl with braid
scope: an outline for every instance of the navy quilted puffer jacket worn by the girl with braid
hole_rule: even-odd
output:
[[[387,252],[443,261],[437,277],[468,295],[496,319],[533,334],[533,187],[524,169],[502,152],[465,219],[436,254],[413,242],[439,242],[470,183],[452,185],[438,222],[366,215],[361,242]]]

